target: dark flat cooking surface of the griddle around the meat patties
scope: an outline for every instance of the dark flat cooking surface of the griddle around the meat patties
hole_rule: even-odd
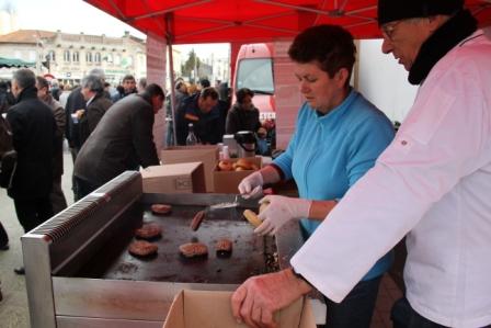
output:
[[[238,284],[271,270],[267,259],[273,256],[274,240],[253,234],[253,227],[242,217],[244,207],[207,211],[199,229],[193,231],[191,220],[205,206],[171,205],[170,215],[152,214],[149,204],[144,208],[144,224],[162,227],[162,236],[150,240],[159,247],[158,253],[149,258],[129,255],[129,244],[138,240],[132,231],[127,245],[103,273],[103,279]],[[233,242],[229,257],[216,253],[215,244],[220,238]],[[207,257],[187,259],[180,255],[180,245],[194,241],[208,247]]]

